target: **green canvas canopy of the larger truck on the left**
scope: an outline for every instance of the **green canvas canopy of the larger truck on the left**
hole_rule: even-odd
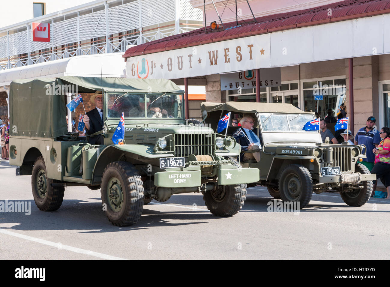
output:
[[[64,85],[67,85],[68,92],[76,89],[78,93],[93,93],[102,89],[110,92],[183,92],[172,81],[163,79],[62,76],[14,80],[9,89],[11,136],[57,138],[65,135],[67,110],[63,95],[66,90],[57,90]],[[53,91],[54,96],[51,95]]]

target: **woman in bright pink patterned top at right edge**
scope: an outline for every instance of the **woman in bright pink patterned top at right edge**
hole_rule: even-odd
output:
[[[385,184],[387,190],[387,199],[390,199],[390,129],[381,128],[379,133],[381,142],[378,148],[373,149],[372,152],[376,154],[375,165],[371,173],[376,174],[376,179],[380,178],[381,182]],[[376,182],[372,190],[372,196],[375,194]]]

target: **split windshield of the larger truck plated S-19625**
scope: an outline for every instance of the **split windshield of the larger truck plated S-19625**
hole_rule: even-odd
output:
[[[107,93],[107,118],[183,118],[181,94]]]

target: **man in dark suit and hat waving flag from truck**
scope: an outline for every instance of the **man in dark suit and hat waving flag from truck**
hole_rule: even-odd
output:
[[[88,135],[103,129],[103,95],[101,91],[96,91],[91,96],[90,101],[96,105],[96,108],[87,112],[87,115],[84,117],[85,130]],[[102,145],[103,135],[89,136],[88,142],[92,145]]]

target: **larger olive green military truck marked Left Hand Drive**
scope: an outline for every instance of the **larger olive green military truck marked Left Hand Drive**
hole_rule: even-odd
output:
[[[87,138],[67,131],[65,92],[57,87],[69,85],[81,96],[102,92],[101,131]],[[114,225],[136,223],[144,204],[177,193],[203,193],[211,213],[232,216],[244,204],[246,183],[259,180],[257,168],[229,159],[240,151],[234,138],[186,124],[184,92],[169,80],[16,80],[9,97],[10,164],[18,175],[32,175],[34,200],[43,211],[61,206],[66,186],[88,186],[101,189],[103,210]],[[121,127],[124,138],[114,144]],[[103,144],[90,144],[98,134]]]

